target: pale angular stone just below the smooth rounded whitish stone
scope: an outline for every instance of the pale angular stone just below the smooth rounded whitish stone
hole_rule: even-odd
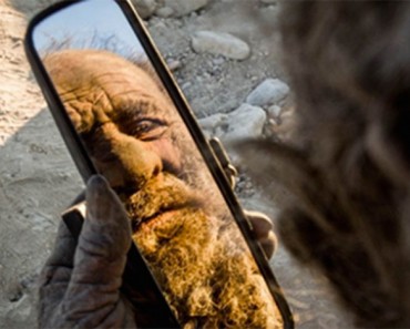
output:
[[[224,142],[233,142],[242,138],[256,138],[263,133],[266,122],[266,113],[258,106],[242,104],[237,110],[228,114],[228,128],[221,136]]]

